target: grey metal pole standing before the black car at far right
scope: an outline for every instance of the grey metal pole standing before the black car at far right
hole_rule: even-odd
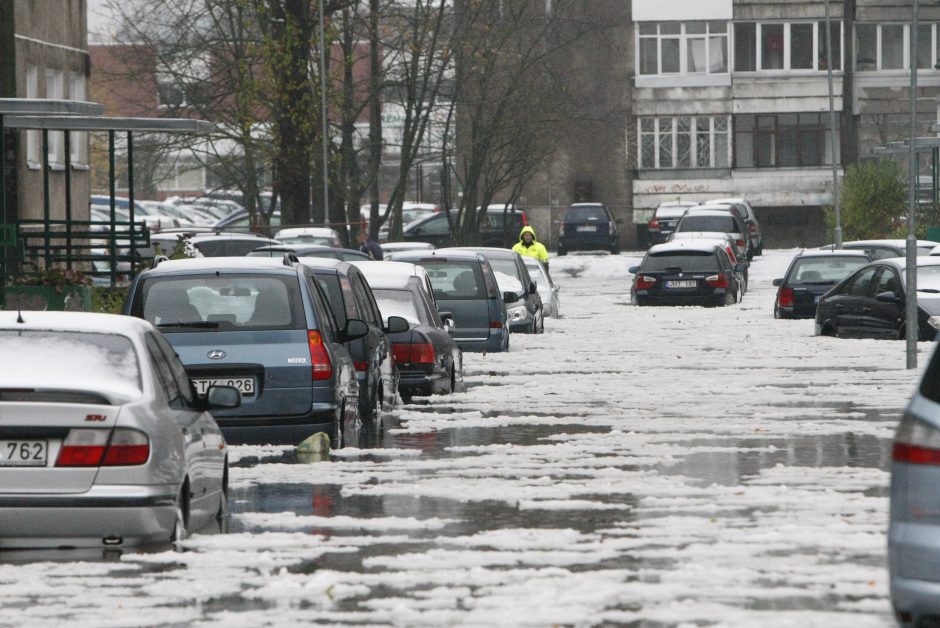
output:
[[[905,263],[905,282],[907,283],[907,306],[905,328],[907,330],[907,368],[917,368],[917,337],[920,324],[917,320],[917,235],[914,232],[917,214],[917,35],[919,26],[920,1],[914,0],[911,13],[911,140],[908,153],[908,210],[907,210],[907,250]]]

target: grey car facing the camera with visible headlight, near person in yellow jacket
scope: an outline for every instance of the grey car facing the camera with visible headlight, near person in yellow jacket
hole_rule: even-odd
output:
[[[520,334],[545,333],[545,312],[538,286],[532,281],[529,271],[522,261],[522,256],[509,249],[488,247],[470,247],[444,249],[446,251],[473,251],[479,253],[490,263],[496,276],[496,285],[506,297],[506,316],[509,330]],[[509,294],[515,294],[514,300],[508,300]]]

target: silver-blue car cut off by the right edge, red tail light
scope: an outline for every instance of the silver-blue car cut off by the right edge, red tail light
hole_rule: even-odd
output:
[[[940,616],[938,483],[940,354],[935,350],[891,449],[888,571],[894,616],[904,628],[935,625]]]

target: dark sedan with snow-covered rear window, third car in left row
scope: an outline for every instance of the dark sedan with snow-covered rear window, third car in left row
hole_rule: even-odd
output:
[[[408,329],[390,332],[403,399],[450,394],[463,384],[463,352],[450,331],[453,315],[439,313],[427,271],[415,264],[354,264],[369,281],[386,321],[399,316]],[[388,324],[388,323],[386,323]]]

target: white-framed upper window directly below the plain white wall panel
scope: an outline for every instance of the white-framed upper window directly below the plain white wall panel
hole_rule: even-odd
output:
[[[637,30],[641,75],[728,72],[727,22],[643,22]]]

